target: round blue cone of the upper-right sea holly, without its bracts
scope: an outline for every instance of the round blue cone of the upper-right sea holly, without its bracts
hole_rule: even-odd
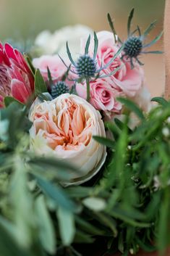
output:
[[[127,41],[124,42],[124,53],[127,57],[135,58],[143,50],[143,41],[140,37],[130,36]]]

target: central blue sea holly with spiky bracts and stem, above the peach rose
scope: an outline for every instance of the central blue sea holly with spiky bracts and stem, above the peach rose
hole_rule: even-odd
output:
[[[94,50],[93,50],[93,57],[91,57],[88,53],[90,46],[90,36],[88,36],[88,40],[85,44],[85,53],[80,55],[80,57],[75,62],[72,59],[72,54],[69,51],[68,43],[66,44],[67,48],[67,54],[69,57],[69,60],[71,62],[71,66],[68,67],[67,64],[64,62],[64,60],[60,57],[61,61],[66,65],[67,68],[69,68],[69,71],[77,75],[77,79],[75,81],[82,82],[83,80],[86,81],[87,84],[87,101],[90,100],[90,81],[96,80],[97,78],[106,78],[110,75],[114,75],[117,70],[119,70],[119,67],[113,70],[108,75],[101,74],[102,70],[106,69],[111,65],[112,62],[114,62],[114,59],[121,53],[124,46],[121,46],[120,49],[116,52],[113,58],[106,64],[103,65],[103,67],[97,66],[97,51],[98,51],[98,38],[96,36],[96,33],[94,32]]]

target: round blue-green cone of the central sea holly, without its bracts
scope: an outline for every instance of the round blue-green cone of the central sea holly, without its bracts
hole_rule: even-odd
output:
[[[92,78],[96,73],[96,63],[88,54],[82,55],[76,62],[77,75],[80,78]]]

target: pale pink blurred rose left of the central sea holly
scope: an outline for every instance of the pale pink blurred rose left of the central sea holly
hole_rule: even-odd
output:
[[[58,55],[43,55],[39,58],[35,58],[33,59],[33,66],[40,70],[45,80],[48,80],[48,67],[54,82],[61,80],[64,73],[67,71],[67,67],[61,62]]]

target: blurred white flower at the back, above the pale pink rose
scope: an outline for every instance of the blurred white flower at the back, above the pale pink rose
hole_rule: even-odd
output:
[[[80,54],[80,38],[87,37],[93,31],[85,25],[74,25],[56,30],[53,34],[48,30],[41,32],[35,38],[35,46],[41,49],[42,54],[58,52],[63,58],[67,57],[66,42],[68,41],[72,56]]]

